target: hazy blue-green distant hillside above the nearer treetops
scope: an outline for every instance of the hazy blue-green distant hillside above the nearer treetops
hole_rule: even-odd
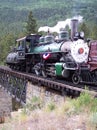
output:
[[[95,0],[0,0],[0,21],[2,26],[20,31],[29,11],[41,25],[55,25],[74,15],[82,15],[86,21],[97,21]],[[19,28],[18,28],[19,27]]]

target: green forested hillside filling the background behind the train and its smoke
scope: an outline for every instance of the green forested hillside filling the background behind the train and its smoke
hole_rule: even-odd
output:
[[[0,0],[0,62],[3,63],[15,40],[25,36],[29,12],[40,26],[54,26],[58,21],[83,16],[81,28],[87,37],[97,39],[96,0]]]

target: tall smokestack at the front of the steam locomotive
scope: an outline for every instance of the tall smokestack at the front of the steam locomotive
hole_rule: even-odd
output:
[[[78,20],[71,20],[71,39],[74,40],[75,33],[78,32]]]

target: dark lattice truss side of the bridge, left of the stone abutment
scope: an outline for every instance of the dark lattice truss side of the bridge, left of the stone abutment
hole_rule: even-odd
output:
[[[26,84],[24,77],[11,71],[0,69],[0,84],[6,92],[22,104],[26,103]]]

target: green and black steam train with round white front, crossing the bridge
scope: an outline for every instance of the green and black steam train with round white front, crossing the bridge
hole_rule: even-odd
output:
[[[97,41],[84,40],[84,33],[76,30],[77,20],[72,20],[71,38],[68,31],[60,31],[57,39],[31,34],[17,39],[6,58],[7,65],[17,71],[35,73],[44,78],[62,77],[97,84]]]

